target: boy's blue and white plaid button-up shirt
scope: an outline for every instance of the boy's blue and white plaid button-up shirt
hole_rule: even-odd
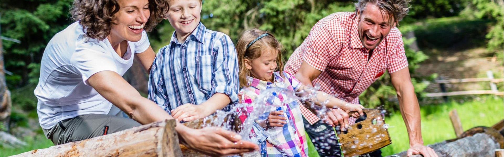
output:
[[[230,110],[238,102],[238,59],[231,39],[200,22],[184,43],[175,32],[159,49],[149,75],[149,99],[169,114],[176,107],[201,104],[215,93],[229,96]]]

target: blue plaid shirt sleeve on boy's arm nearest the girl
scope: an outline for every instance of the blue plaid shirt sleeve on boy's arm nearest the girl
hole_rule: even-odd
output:
[[[227,35],[220,37],[213,48],[215,52],[214,79],[211,94],[227,95],[233,104],[238,102],[238,58],[233,42]],[[226,106],[223,110],[230,110]]]

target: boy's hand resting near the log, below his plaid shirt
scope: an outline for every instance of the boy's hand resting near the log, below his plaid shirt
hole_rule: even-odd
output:
[[[209,116],[209,113],[203,106],[194,104],[184,104],[174,110],[171,110],[171,116],[175,118],[176,121],[192,121],[196,119],[201,119]]]

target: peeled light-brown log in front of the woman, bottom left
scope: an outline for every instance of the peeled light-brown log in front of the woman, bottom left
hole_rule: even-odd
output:
[[[182,156],[175,120],[165,120],[13,156]]]

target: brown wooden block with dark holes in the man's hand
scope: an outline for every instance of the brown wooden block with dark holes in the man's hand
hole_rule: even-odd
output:
[[[345,156],[361,155],[392,143],[380,110],[363,109],[362,111],[365,113],[365,120],[350,125],[347,131],[338,133]]]

